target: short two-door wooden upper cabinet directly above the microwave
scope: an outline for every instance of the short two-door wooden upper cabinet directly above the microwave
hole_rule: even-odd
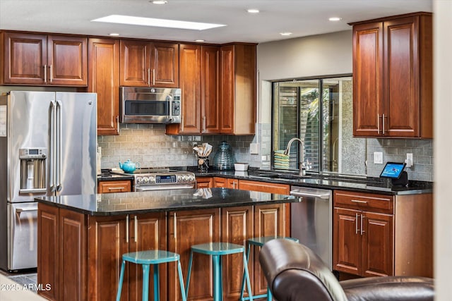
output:
[[[121,39],[120,85],[179,87],[179,44]]]

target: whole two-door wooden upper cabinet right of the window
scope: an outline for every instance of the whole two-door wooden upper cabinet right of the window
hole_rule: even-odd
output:
[[[353,25],[353,135],[432,138],[432,15]]]

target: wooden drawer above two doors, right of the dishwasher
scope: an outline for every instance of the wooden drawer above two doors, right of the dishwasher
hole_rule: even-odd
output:
[[[363,211],[393,214],[394,209],[394,197],[390,195],[335,190],[333,201],[334,207],[360,209]]]

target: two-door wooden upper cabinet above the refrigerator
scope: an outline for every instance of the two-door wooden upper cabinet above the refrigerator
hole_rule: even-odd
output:
[[[1,41],[3,84],[88,84],[88,39],[85,37],[3,32]]]

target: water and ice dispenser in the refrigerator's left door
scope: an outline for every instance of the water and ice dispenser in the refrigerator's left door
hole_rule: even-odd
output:
[[[46,192],[47,149],[44,147],[19,149],[20,193]]]

